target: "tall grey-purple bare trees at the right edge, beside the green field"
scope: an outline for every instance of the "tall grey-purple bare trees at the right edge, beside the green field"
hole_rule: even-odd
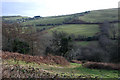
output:
[[[113,40],[111,40],[110,29],[113,35]],[[120,41],[119,36],[116,36],[115,26],[110,25],[110,23],[105,22],[101,26],[101,36],[99,37],[99,44],[101,48],[106,51],[106,57],[108,57],[109,62],[120,62],[120,55],[118,53],[119,46],[118,42]],[[116,40],[115,40],[116,39]]]

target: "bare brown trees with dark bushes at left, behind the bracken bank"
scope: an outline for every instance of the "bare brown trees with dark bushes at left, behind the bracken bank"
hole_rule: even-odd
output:
[[[45,51],[45,39],[41,36],[41,32],[35,32],[33,28],[32,26],[22,27],[17,23],[3,23],[2,50],[43,55]]]

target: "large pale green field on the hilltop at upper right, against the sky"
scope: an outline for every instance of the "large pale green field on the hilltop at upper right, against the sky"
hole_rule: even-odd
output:
[[[86,22],[103,22],[118,20],[118,10],[117,9],[105,9],[105,10],[96,10],[91,11],[85,16],[80,16],[80,20]]]

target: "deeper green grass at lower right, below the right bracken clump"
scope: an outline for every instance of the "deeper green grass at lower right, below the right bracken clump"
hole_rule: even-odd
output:
[[[78,71],[77,73],[82,73],[83,75],[90,75],[92,77],[99,78],[116,78],[118,76],[118,72],[114,70],[98,70],[98,69],[88,69],[84,67],[76,67],[74,70]],[[117,73],[117,74],[116,74]],[[116,77],[115,77],[116,76]]]

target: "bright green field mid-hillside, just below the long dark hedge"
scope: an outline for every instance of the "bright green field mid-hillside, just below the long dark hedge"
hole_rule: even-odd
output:
[[[95,35],[95,33],[99,32],[99,26],[98,25],[80,25],[80,24],[61,25],[48,30],[48,32],[52,32],[55,30],[64,31],[68,34],[93,36]]]

